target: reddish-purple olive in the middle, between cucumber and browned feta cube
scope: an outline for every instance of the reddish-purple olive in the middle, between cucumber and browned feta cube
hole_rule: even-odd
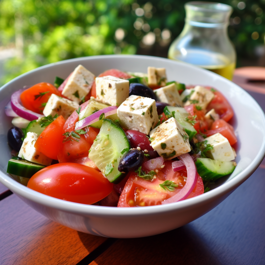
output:
[[[132,148],[137,148],[139,146],[142,151],[147,150],[147,152],[144,153],[150,155],[148,158],[158,157],[157,152],[154,151],[144,133],[135,130],[127,130],[125,134],[129,139]]]

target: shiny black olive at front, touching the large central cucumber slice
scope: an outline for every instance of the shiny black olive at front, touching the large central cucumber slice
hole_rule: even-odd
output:
[[[144,153],[138,149],[131,149],[125,154],[118,165],[118,170],[129,171],[138,169],[144,160]]]

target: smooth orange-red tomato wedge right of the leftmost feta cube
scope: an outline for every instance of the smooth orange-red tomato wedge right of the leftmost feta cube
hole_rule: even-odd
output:
[[[61,115],[49,124],[39,135],[34,147],[45,156],[57,160],[60,143],[63,140],[62,130],[65,123]]]

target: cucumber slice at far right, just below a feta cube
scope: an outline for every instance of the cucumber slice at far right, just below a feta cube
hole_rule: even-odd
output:
[[[236,167],[236,163],[233,161],[212,160],[210,158],[197,158],[195,165],[199,175],[210,182],[231,174]]]

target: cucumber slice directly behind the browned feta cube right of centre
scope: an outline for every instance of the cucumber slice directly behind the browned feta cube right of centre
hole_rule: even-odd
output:
[[[172,115],[175,120],[184,127],[185,132],[189,136],[189,140],[197,133],[192,124],[185,120],[185,118],[189,116],[189,113],[184,108],[166,106],[164,108],[164,113],[165,115]]]

